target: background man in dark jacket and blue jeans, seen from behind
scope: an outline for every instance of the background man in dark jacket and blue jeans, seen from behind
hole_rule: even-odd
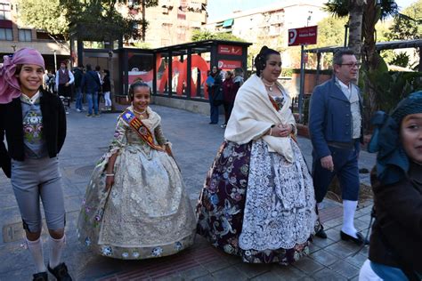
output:
[[[93,71],[90,64],[87,64],[86,72],[81,82],[81,89],[86,93],[86,99],[88,100],[87,117],[100,116],[98,112],[98,91],[100,90],[100,86],[101,82],[98,74]]]

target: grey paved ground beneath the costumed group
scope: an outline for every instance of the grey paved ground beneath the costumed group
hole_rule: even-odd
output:
[[[195,205],[207,170],[223,141],[223,129],[208,124],[209,117],[191,112],[152,106],[162,117],[166,137],[173,143],[174,157],[183,173],[183,179]],[[238,257],[222,253],[197,236],[196,243],[180,254],[147,261],[120,261],[85,250],[77,242],[76,222],[80,203],[93,165],[108,149],[118,114],[102,114],[87,118],[74,109],[68,115],[68,137],[61,151],[61,173],[67,210],[67,247],[64,259],[76,280],[357,280],[367,256],[367,248],[340,241],[341,205],[327,200],[321,219],[328,230],[326,240],[315,238],[309,257],[293,266],[276,264],[250,265]],[[223,120],[223,119],[222,119]],[[299,138],[300,147],[308,164],[311,163],[311,143]],[[375,156],[361,153],[361,168],[370,170]],[[361,175],[369,183],[368,175]],[[30,280],[35,267],[23,243],[20,213],[12,193],[10,181],[0,175],[0,221],[3,239],[0,239],[0,280]],[[371,205],[356,213],[357,229],[369,226]],[[366,234],[366,230],[364,232]],[[47,236],[44,231],[45,262]],[[53,277],[51,277],[53,278]]]

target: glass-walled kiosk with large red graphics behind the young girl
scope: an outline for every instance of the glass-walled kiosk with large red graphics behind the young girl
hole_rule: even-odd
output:
[[[120,77],[115,90],[126,95],[130,84],[142,79],[157,96],[207,100],[207,72],[247,68],[250,43],[206,40],[145,50],[122,48],[118,52]]]

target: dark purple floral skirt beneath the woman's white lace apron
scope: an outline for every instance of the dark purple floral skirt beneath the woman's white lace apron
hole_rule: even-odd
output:
[[[239,247],[252,147],[253,141],[242,145],[224,141],[221,145],[199,197],[197,233],[225,253],[239,255],[244,262],[287,265],[309,253],[312,236],[289,249],[257,251]]]

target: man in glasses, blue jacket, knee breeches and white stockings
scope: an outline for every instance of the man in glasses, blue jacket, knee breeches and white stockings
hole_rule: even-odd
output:
[[[357,245],[368,244],[353,223],[360,188],[358,157],[363,141],[361,92],[353,84],[359,67],[353,51],[336,52],[334,76],[315,87],[309,109],[312,177],[317,204],[321,206],[330,182],[337,175],[343,199],[340,237]],[[316,235],[327,237],[323,229]]]

